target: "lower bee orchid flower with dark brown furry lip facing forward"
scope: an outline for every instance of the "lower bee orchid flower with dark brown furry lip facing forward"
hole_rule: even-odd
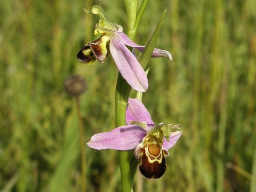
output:
[[[126,109],[127,126],[117,127],[109,132],[98,133],[91,137],[87,145],[93,149],[134,150],[139,161],[139,170],[147,179],[158,179],[166,170],[165,157],[175,145],[181,131],[171,131],[182,125],[155,125],[142,102],[128,100]]]

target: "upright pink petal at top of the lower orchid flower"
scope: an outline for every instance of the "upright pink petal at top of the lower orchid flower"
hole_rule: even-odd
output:
[[[139,99],[128,99],[126,109],[126,124],[129,125],[130,121],[146,121],[146,124],[154,124],[148,110]]]

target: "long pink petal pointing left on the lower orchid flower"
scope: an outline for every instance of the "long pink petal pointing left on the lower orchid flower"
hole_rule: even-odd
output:
[[[126,151],[141,143],[146,131],[138,125],[115,128],[109,132],[98,133],[91,137],[87,145],[93,149],[115,149]]]

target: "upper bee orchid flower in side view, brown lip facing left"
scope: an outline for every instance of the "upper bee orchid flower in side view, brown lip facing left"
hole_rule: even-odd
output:
[[[77,60],[82,63],[90,64],[99,60],[104,62],[109,53],[111,53],[118,70],[127,83],[136,91],[145,92],[148,89],[148,79],[142,66],[137,61],[136,57],[126,47],[134,47],[142,52],[145,46],[133,43],[120,25],[112,23],[105,12],[99,6],[92,6],[88,11],[83,9],[88,14],[97,14],[100,16],[99,24],[96,24],[94,34],[101,34],[101,37],[95,41],[89,42],[77,54]],[[108,51],[109,49],[109,51]],[[172,60],[172,55],[161,49],[154,49],[151,57],[166,57]]]

